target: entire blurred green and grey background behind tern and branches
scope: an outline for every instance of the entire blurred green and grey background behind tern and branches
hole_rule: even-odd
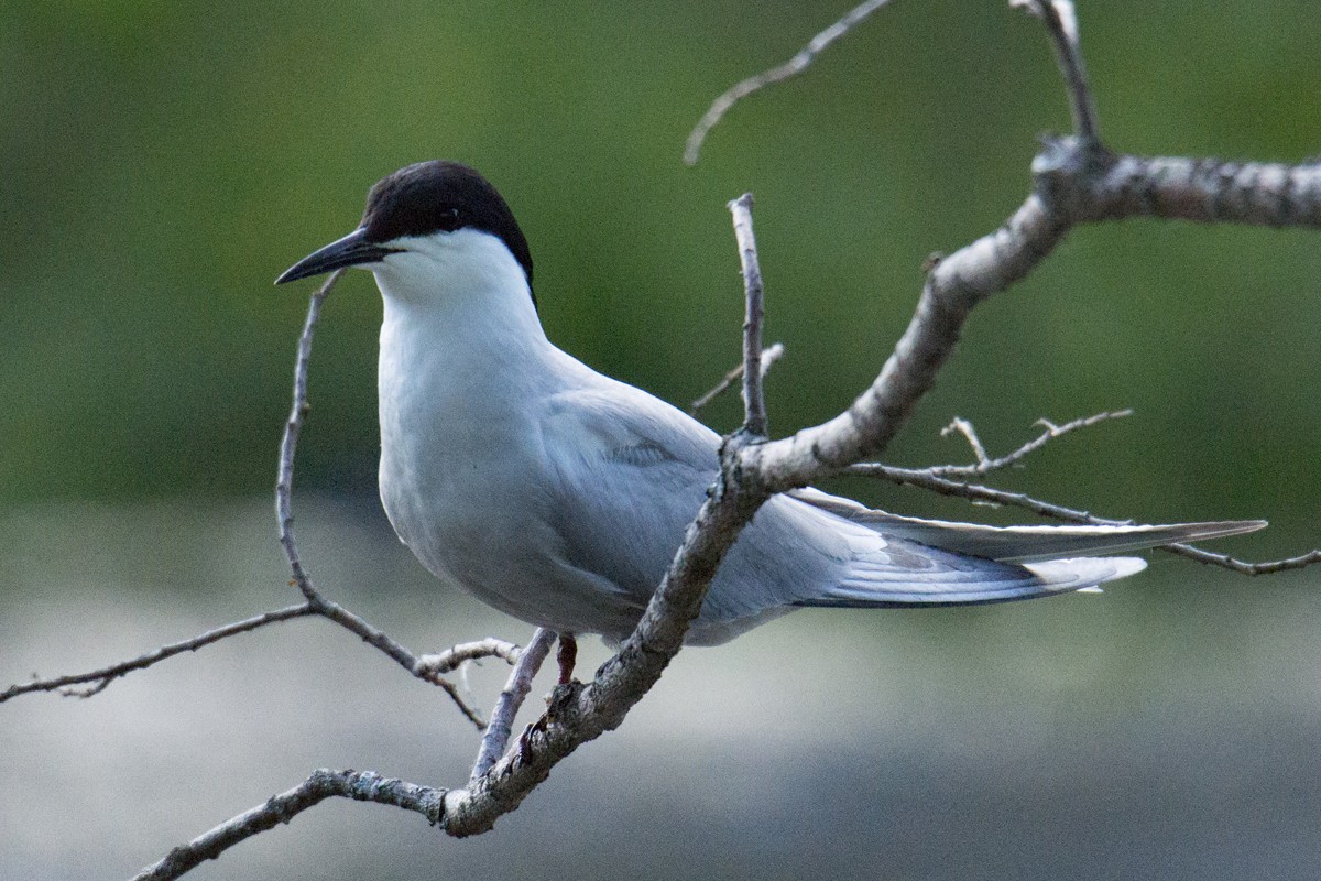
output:
[[[1036,21],[897,0],[682,165],[716,94],[845,8],[0,0],[0,679],[292,601],[267,499],[310,284],[271,281],[407,162],[482,169],[531,240],[552,339],[676,403],[738,358],[725,202],[753,190],[768,338],[789,350],[773,431],[839,412],[908,322],[923,259],[1000,225],[1037,133],[1069,124]],[[1115,149],[1321,152],[1314,4],[1081,16]],[[1264,516],[1217,547],[1303,552],[1321,532],[1318,295],[1316,231],[1077,230],[974,314],[888,458],[966,461],[938,435],[955,413],[1000,453],[1037,417],[1132,407],[1001,482],[1112,516]],[[313,572],[419,650],[522,639],[386,531],[379,312],[353,273],[317,339],[296,502]],[[707,417],[737,412],[731,396]],[[683,652],[491,836],[329,806],[197,877],[1314,878],[1316,573],[1152,560],[1103,598],[793,616]],[[587,670],[604,658],[584,651]],[[480,703],[502,675],[478,675]],[[317,765],[453,785],[473,746],[329,625],[255,634],[89,703],[0,707],[0,757],[24,771],[0,796],[0,876],[127,876]]]

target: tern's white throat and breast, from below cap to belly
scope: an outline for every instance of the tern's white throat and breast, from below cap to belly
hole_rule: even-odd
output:
[[[439,577],[571,629],[581,613],[557,605],[594,592],[564,582],[576,576],[551,526],[542,424],[551,395],[587,369],[546,339],[522,268],[493,236],[461,230],[410,248],[376,269],[382,503]]]

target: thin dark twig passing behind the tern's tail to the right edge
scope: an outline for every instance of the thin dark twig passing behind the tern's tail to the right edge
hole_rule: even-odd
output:
[[[1005,507],[1018,507],[1041,516],[1048,516],[1055,520],[1065,520],[1069,523],[1085,523],[1089,526],[1132,526],[1133,520],[1115,520],[1111,518],[1096,516],[1089,511],[1079,511],[1077,509],[1065,507],[1062,505],[1055,505],[1053,502],[1044,502],[1041,499],[1033,498],[1025,493],[1009,493],[1005,490],[999,490],[992,486],[983,486],[980,483],[964,483],[960,481],[951,481],[945,477],[939,477],[933,473],[934,469],[925,468],[894,468],[892,465],[878,465],[878,464],[863,464],[853,465],[845,469],[845,474],[860,474],[863,477],[878,477],[892,483],[900,483],[902,486],[915,486],[918,489],[931,490],[933,493],[939,493],[941,495],[952,495],[955,498],[963,498],[972,502],[982,502],[989,505],[1003,505]],[[1284,572],[1287,569],[1301,569],[1304,567],[1314,565],[1321,563],[1321,548],[1301,553],[1295,557],[1288,557],[1283,560],[1267,560],[1263,563],[1248,563],[1246,560],[1238,560],[1225,553],[1211,553],[1209,551],[1202,551],[1190,544],[1162,544],[1157,549],[1173,553],[1176,556],[1188,557],[1189,560],[1196,560],[1198,563],[1205,563],[1207,565],[1218,565],[1240,575],[1272,575],[1276,572]]]

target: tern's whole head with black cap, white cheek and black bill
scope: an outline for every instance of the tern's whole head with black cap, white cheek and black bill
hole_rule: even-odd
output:
[[[299,260],[275,283],[345,267],[373,271],[382,291],[387,284],[436,291],[519,273],[528,292],[532,287],[527,239],[499,192],[466,165],[441,160],[378,181],[357,230]]]

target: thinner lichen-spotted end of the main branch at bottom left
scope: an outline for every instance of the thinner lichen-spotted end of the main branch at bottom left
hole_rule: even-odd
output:
[[[244,811],[188,844],[174,848],[164,860],[133,876],[133,881],[177,878],[206,860],[214,860],[239,841],[288,823],[297,814],[334,796],[416,811],[432,826],[441,822],[445,811],[445,790],[384,778],[374,771],[317,769],[292,790],[273,795],[264,804]]]

